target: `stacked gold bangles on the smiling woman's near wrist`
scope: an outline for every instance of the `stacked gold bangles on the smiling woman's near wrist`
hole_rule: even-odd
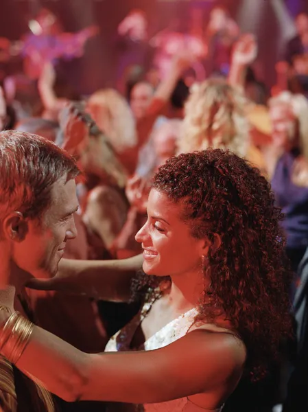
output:
[[[34,324],[14,312],[6,321],[0,337],[0,352],[15,365],[29,343]]]

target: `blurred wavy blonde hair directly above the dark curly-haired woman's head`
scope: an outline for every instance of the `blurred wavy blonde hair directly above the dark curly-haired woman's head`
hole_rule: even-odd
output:
[[[228,149],[266,173],[263,155],[250,139],[247,104],[241,90],[225,80],[212,79],[194,84],[185,106],[179,152]]]

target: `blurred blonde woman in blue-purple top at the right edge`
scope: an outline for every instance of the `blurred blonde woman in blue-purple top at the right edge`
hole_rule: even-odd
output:
[[[285,214],[292,269],[308,246],[308,102],[288,91],[269,101],[272,144],[264,151],[276,203]]]

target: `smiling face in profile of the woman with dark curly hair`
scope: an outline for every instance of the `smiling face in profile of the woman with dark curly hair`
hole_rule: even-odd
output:
[[[181,204],[151,190],[147,221],[136,235],[143,247],[143,271],[147,275],[174,277],[200,271],[207,242],[191,236],[189,225],[180,218],[181,211]]]

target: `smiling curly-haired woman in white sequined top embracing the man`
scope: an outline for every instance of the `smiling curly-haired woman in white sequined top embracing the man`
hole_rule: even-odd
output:
[[[244,159],[219,149],[172,157],[136,236],[150,276],[134,284],[143,307],[106,352],[80,352],[2,307],[1,354],[69,401],[221,411],[243,372],[261,376],[289,334],[280,220],[268,181]]]

